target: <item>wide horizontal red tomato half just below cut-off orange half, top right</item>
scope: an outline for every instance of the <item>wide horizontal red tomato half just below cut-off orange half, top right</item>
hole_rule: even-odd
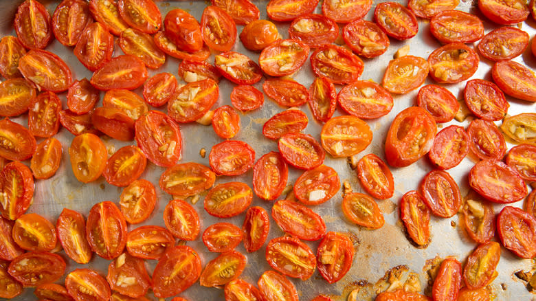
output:
[[[443,10],[430,20],[430,32],[441,43],[473,43],[484,36],[484,25],[474,14]]]

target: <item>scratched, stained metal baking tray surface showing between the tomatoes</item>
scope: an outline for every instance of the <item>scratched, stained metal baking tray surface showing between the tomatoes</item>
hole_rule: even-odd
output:
[[[377,2],[379,1],[375,0],[375,3]],[[402,2],[404,5],[406,4],[405,1]],[[21,1],[0,1],[0,30],[2,36],[6,34],[14,35],[12,30],[12,20],[14,19],[14,13],[18,3],[21,3]],[[54,12],[54,8],[56,7],[57,3],[58,2],[53,1],[47,1],[45,3],[51,15],[52,12]],[[265,10],[267,1],[256,1],[255,3],[260,8],[261,19],[267,19]],[[193,16],[200,20],[201,13],[203,12],[205,5],[207,5],[207,2],[159,1],[157,5],[159,6],[163,16],[165,16],[166,12],[169,10],[174,8],[183,8],[188,10],[191,14],[193,14]],[[372,20],[372,12],[374,8],[375,5],[372,6],[372,10],[370,10],[365,19]],[[471,2],[460,3],[460,5],[458,5],[458,10],[472,12],[480,16],[484,21],[486,33],[495,28],[494,25],[489,23],[487,19],[482,16],[480,12],[478,12],[478,9],[476,9]],[[318,5],[315,12],[320,13],[320,5]],[[286,38],[288,36],[288,23],[277,23],[277,25],[280,34]],[[529,16],[529,20],[523,23],[522,26],[522,29],[526,30],[531,37],[534,36],[536,32],[536,22],[531,16]],[[243,26],[238,26],[238,33],[241,32],[242,28]],[[361,79],[371,79],[375,82],[380,82],[381,77],[383,76],[383,71],[386,69],[389,60],[392,58],[392,55],[403,45],[410,45],[410,54],[422,56],[423,58],[427,58],[427,56],[434,49],[440,46],[433,36],[429,34],[429,23],[421,19],[419,20],[419,32],[416,37],[410,39],[409,41],[402,42],[391,40],[391,46],[385,54],[374,59],[364,59],[365,68]],[[476,46],[476,43],[471,46]],[[72,49],[64,47],[58,43],[58,41],[54,41],[47,47],[47,50],[61,56],[63,60],[65,60],[71,67],[71,70],[74,71],[75,78],[80,79],[84,77],[91,77],[91,72],[85,69],[85,67],[78,62],[74,54],[72,54]],[[238,40],[234,50],[247,54],[253,60],[258,60],[258,53],[247,51]],[[115,55],[119,54],[122,54],[122,51],[119,49],[119,47],[116,47]],[[519,56],[514,60],[524,63],[533,70],[536,67],[536,61],[530,52],[530,47],[526,50],[526,52],[524,52],[524,54],[522,54],[522,56]],[[179,60],[168,56],[166,64],[157,71],[150,70],[150,75],[161,71],[169,71],[172,74],[177,75],[178,64]],[[491,80],[490,69],[491,62],[482,59],[480,61],[478,71],[473,78],[484,78]],[[306,87],[309,87],[313,80],[309,60],[307,60],[304,67],[302,67],[302,69],[295,74],[294,78]],[[432,83],[432,80],[428,79],[426,84],[428,83]],[[262,91],[261,84],[262,81],[259,82],[256,87]],[[219,102],[216,104],[216,106],[230,104],[229,96],[233,86],[234,84],[231,82],[221,80]],[[461,93],[463,87],[465,87],[465,82],[455,85],[447,85],[445,87],[453,92],[454,95],[458,96],[458,98],[462,98]],[[337,89],[339,88],[340,87]],[[137,92],[140,91],[138,90]],[[385,141],[389,124],[394,116],[399,113],[399,111],[411,106],[414,103],[416,93],[417,90],[407,93],[403,96],[393,96],[394,108],[392,111],[382,118],[368,121],[368,124],[374,133],[374,139],[372,140],[372,144],[370,144],[366,150],[360,153],[359,156],[366,155],[368,153],[375,153],[379,155],[379,157],[384,157],[383,143]],[[101,94],[101,96],[102,95],[103,94]],[[61,93],[60,98],[63,100],[64,107],[66,107],[66,93]],[[509,109],[510,115],[515,115],[516,113],[521,112],[536,111],[536,103],[522,102],[512,98],[508,98],[508,100],[511,104]],[[317,140],[320,140],[321,124],[315,122],[309,111],[309,108],[307,108],[306,105],[302,106],[301,109],[309,116],[309,125],[307,126],[305,132],[313,135],[313,137],[315,137]],[[278,105],[266,98],[262,109],[251,113],[241,114],[242,129],[234,139],[243,140],[253,146],[256,151],[256,159],[271,150],[277,150],[276,143],[265,139],[261,134],[261,129],[263,123],[268,118],[283,110],[284,108],[278,107]],[[342,112],[337,111],[335,115],[342,115]],[[14,120],[21,122],[21,124],[27,124],[25,117],[14,118]],[[466,120],[462,123],[452,121],[449,122],[449,124],[460,124],[462,126],[467,126],[469,120]],[[443,126],[447,125],[448,124],[443,124]],[[204,159],[201,158],[199,155],[199,150],[201,148],[205,148],[207,152],[209,152],[212,145],[222,141],[221,138],[214,134],[212,126],[202,126],[197,123],[184,124],[181,125],[181,132],[183,134],[181,162],[196,161],[208,166],[208,156]],[[55,221],[63,208],[78,210],[87,216],[89,209],[94,203],[105,200],[111,200],[115,203],[118,203],[121,188],[109,185],[102,177],[100,177],[100,179],[97,181],[88,184],[83,184],[76,180],[71,170],[67,153],[67,149],[74,136],[71,135],[67,130],[60,129],[60,132],[58,135],[56,135],[56,137],[58,137],[60,142],[63,144],[63,159],[60,169],[54,177],[47,180],[36,181],[34,203],[30,207],[30,210],[28,210],[28,213],[36,212],[38,214],[42,214],[51,221]],[[115,149],[129,144],[111,139],[105,140],[104,143],[107,144],[109,148],[115,147]],[[29,164],[28,161],[24,163]],[[333,159],[329,156],[326,156],[326,161],[324,164],[335,168],[335,170],[337,170],[339,173],[341,181],[349,179],[350,183],[352,183],[353,189],[355,191],[361,191],[361,187],[359,186],[355,172],[350,170],[348,164],[346,163],[346,159]],[[462,190],[462,195],[465,195],[467,192],[467,172],[469,168],[473,166],[473,164],[474,162],[467,157],[462,161],[460,166],[449,170],[449,173],[457,180],[458,185]],[[290,169],[288,183],[292,184],[293,181],[295,181],[295,179],[301,174],[301,172],[299,170],[294,170],[293,168]],[[405,237],[403,226],[399,221],[399,211],[397,208],[399,199],[408,190],[416,189],[423,176],[431,169],[432,166],[428,163],[426,158],[419,160],[416,162],[416,164],[412,164],[412,166],[408,166],[407,168],[392,168],[395,181],[394,196],[391,199],[378,202],[386,218],[386,224],[379,230],[364,230],[345,221],[340,210],[340,203],[342,201],[341,191],[339,191],[339,193],[337,193],[337,195],[330,201],[322,205],[315,206],[313,210],[323,216],[329,231],[354,232],[359,238],[359,245],[357,246],[357,252],[355,254],[352,269],[350,269],[346,277],[337,284],[328,285],[317,271],[315,271],[315,274],[313,277],[311,277],[311,279],[305,282],[301,280],[292,280],[298,289],[298,292],[300,293],[300,300],[311,300],[318,293],[324,293],[332,296],[335,300],[346,300],[347,292],[344,293],[344,288],[348,285],[348,283],[356,280],[368,280],[369,282],[375,283],[381,276],[383,276],[383,274],[385,274],[386,270],[394,267],[395,265],[407,265],[410,269],[416,271],[418,274],[420,274],[421,285],[425,287],[426,280],[422,271],[423,265],[425,265],[425,260],[434,258],[435,256],[445,257],[453,255],[456,256],[456,258],[458,258],[458,260],[461,262],[464,262],[469,252],[471,252],[471,249],[476,247],[476,243],[473,243],[465,234],[465,230],[458,226],[458,216],[454,216],[451,219],[438,219],[432,216],[432,241],[426,249],[416,249],[412,246],[412,244]],[[148,221],[139,225],[129,225],[129,230],[139,227],[140,225],[164,224],[162,221],[164,206],[170,199],[172,199],[172,197],[165,192],[162,192],[158,187],[158,179],[163,170],[163,168],[157,167],[154,164],[148,164],[146,171],[142,175],[142,178],[148,179],[155,184],[159,201],[155,211],[150,216]],[[244,181],[251,186],[252,170],[249,170],[249,172],[241,177],[218,177],[216,179],[216,184],[226,181]],[[267,210],[269,210],[271,207],[271,203],[260,200],[257,197],[254,197],[252,205],[260,205]],[[522,203],[519,202],[515,205],[521,206]],[[495,205],[495,212],[499,212],[501,207],[502,206],[500,205]],[[209,225],[212,225],[217,221],[222,221],[222,219],[216,219],[203,210],[202,199],[194,205],[194,208],[196,208],[199,216],[201,217],[202,231],[205,230],[205,228]],[[225,221],[234,223],[235,225],[241,227],[244,216],[245,214],[240,214],[239,216],[226,219]],[[456,226],[452,226],[451,221],[454,221]],[[278,229],[277,225],[272,221],[269,239],[276,236],[282,236],[283,234],[284,233]],[[315,252],[317,242],[307,244],[311,246],[313,252]],[[209,260],[212,260],[212,258],[215,258],[217,255],[208,252],[206,247],[201,242],[201,239],[194,242],[188,242],[187,245],[190,245],[196,249],[199,254],[201,254],[203,265],[208,263]],[[243,245],[238,247],[238,251],[243,252],[244,254],[246,253]],[[65,259],[68,259],[63,251],[60,252],[60,254]],[[265,247],[260,249],[258,252],[247,254],[247,260],[247,266],[241,278],[247,280],[248,282],[256,283],[260,274],[269,269],[269,265],[265,260]],[[149,271],[152,272],[155,267],[155,261],[149,261],[150,262],[147,266]],[[80,267],[80,265],[75,264],[72,260],[67,260],[67,263],[67,273]],[[89,263],[89,268],[96,269],[100,272],[100,274],[105,276],[108,264],[109,262],[107,260],[103,260],[98,256],[93,256],[93,260],[91,260],[91,263]],[[530,269],[531,265],[531,260],[521,260],[508,250],[504,248],[502,249],[502,257],[498,266],[498,271],[500,274],[492,285],[494,293],[496,296],[498,296],[497,300],[535,300],[535,295],[528,293],[521,282],[513,280],[514,271],[519,269]],[[60,281],[63,281],[63,278]],[[501,284],[503,283],[506,285],[506,289],[502,289]],[[33,289],[27,289],[25,293],[23,293],[22,296],[19,296],[19,298],[16,298],[16,300],[33,300],[34,295],[32,292]],[[200,287],[199,284],[196,284],[183,292],[181,296],[188,298],[188,300],[197,301],[223,300],[223,290]],[[149,293],[148,297],[153,300],[155,299],[152,293]],[[368,300],[370,300],[370,298]]]

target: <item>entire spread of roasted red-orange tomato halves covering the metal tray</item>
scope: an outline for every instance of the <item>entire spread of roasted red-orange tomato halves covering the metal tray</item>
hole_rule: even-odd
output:
[[[34,287],[39,300],[146,301],[149,290],[157,298],[175,297],[199,281],[223,288],[227,301],[298,301],[289,278],[306,281],[318,270],[330,284],[342,280],[358,243],[315,212],[315,205],[340,196],[341,180],[326,157],[348,158],[366,192],[353,192],[344,181],[335,211],[348,228],[383,227],[377,200],[395,192],[399,218],[416,247],[430,243],[432,215],[460,214],[478,246],[467,259],[450,256],[436,267],[433,300],[490,300],[485,288],[498,275],[501,247],[513,256],[536,257],[536,194],[528,194],[526,185],[536,181],[536,113],[508,115],[510,97],[527,107],[536,102],[534,72],[512,60],[528,47],[521,27],[484,34],[479,16],[456,10],[458,0],[410,0],[407,7],[384,1],[374,8],[372,0],[324,0],[321,8],[318,0],[269,0],[267,16],[287,22],[288,34],[278,32],[281,23],[260,20],[250,0],[212,0],[199,20],[164,4],[63,0],[49,11],[38,0],[25,0],[17,8],[15,35],[0,40],[0,298]],[[523,22],[534,6],[478,1],[487,21],[500,25]],[[364,19],[370,10],[372,21]],[[360,80],[368,59],[386,53],[390,38],[416,36],[420,19],[429,19],[438,47],[427,58],[399,49],[384,64],[381,82]],[[54,39],[62,45],[51,47]],[[236,52],[237,43],[259,52],[258,60]],[[91,78],[77,78],[66,57],[52,52],[57,47],[72,51]],[[536,42],[532,50],[536,55]],[[480,56],[493,65],[493,82],[473,78]],[[292,76],[308,58],[313,81],[306,87]],[[175,74],[159,72],[174,64]],[[435,83],[423,86],[428,79]],[[234,85],[227,105],[219,104],[227,97],[220,91],[223,80]],[[463,101],[443,85],[460,82]],[[368,121],[391,113],[392,94],[406,93],[414,93],[415,105],[391,114],[383,151],[363,155],[378,132]],[[281,108],[265,116],[262,127],[278,151],[259,154],[236,136],[241,116],[262,109],[265,95]],[[469,114],[467,127],[445,124]],[[308,115],[322,126],[320,133],[304,133]],[[208,164],[181,161],[184,146],[197,144],[181,134],[193,122],[212,124],[221,140],[210,146]],[[69,136],[67,154],[60,142],[65,136],[54,137],[59,131]],[[110,139],[126,146],[115,150]],[[71,170],[61,176],[74,175],[65,181],[94,186],[102,176],[120,189],[118,201],[87,196],[87,216],[64,208],[55,224],[28,211],[34,181],[60,177],[64,155]],[[205,158],[204,148],[200,155]],[[475,164],[467,175],[471,192],[463,197],[448,170],[467,156]],[[391,168],[426,165],[423,157],[430,171],[416,189],[395,191],[397,182],[409,179],[394,178]],[[142,179],[148,164],[159,171],[158,183]],[[300,175],[289,179],[289,172]],[[252,180],[233,178],[243,175]],[[161,203],[157,188],[172,200]],[[203,208],[195,205],[201,197]],[[269,212],[254,204],[259,199]],[[510,205],[523,199],[523,209]],[[495,215],[495,203],[509,205]],[[150,221],[158,207],[164,227],[134,226]],[[221,221],[206,225],[202,210]],[[241,227],[224,220],[234,216],[243,216]],[[281,232],[268,239],[273,223]],[[495,232],[500,243],[493,241]],[[199,240],[206,250],[186,245]],[[309,242],[317,242],[316,249]],[[273,269],[256,285],[241,279],[250,268],[247,256],[236,251],[241,243]],[[58,254],[62,249],[65,256]],[[217,256],[209,261],[201,252]],[[89,268],[94,254],[109,260],[106,276]],[[72,270],[66,257],[90,265]],[[146,260],[157,260],[152,275]],[[420,287],[406,285],[375,293],[375,300],[430,300]]]

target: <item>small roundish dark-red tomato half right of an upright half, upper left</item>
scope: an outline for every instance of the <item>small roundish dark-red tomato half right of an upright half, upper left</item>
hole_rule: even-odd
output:
[[[100,99],[100,92],[87,78],[76,80],[67,91],[67,108],[76,114],[88,113]]]

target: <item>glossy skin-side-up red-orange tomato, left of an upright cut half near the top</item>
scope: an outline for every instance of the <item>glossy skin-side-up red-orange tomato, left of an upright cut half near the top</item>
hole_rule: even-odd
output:
[[[203,35],[199,22],[179,8],[171,10],[164,18],[166,36],[186,52],[198,52],[203,48]]]

